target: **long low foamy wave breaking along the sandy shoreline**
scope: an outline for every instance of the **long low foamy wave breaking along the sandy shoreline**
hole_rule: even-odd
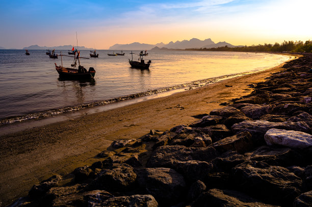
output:
[[[50,110],[45,110],[45,111],[40,111],[40,112],[35,112],[27,115],[22,115],[22,116],[14,116],[14,117],[9,117],[7,119],[0,120],[0,126],[1,125],[6,125],[6,124],[12,124],[15,122],[22,122],[22,121],[27,121],[27,120],[39,120],[39,119],[44,119],[53,115],[58,115],[61,113],[66,113],[66,112],[72,112],[72,111],[77,111],[85,108],[90,108],[93,106],[101,106],[101,105],[106,105],[118,101],[123,101],[123,100],[128,100],[128,99],[134,99],[134,98],[139,98],[143,96],[149,96],[153,94],[159,94],[171,90],[177,90],[181,88],[186,88],[186,90],[191,90],[196,87],[201,87],[206,84],[212,83],[212,82],[217,82],[223,79],[228,79],[236,76],[241,76],[241,75],[246,75],[252,72],[245,72],[245,73],[237,73],[237,74],[229,74],[229,75],[223,75],[215,78],[207,78],[207,79],[202,79],[202,80],[197,80],[197,81],[192,81],[189,83],[184,83],[184,84],[179,84],[179,85],[174,85],[170,87],[163,87],[163,88],[158,88],[155,90],[150,90],[142,93],[137,93],[137,94],[131,94],[127,96],[122,96],[122,97],[117,97],[117,98],[112,98],[108,100],[103,100],[103,101],[96,101],[92,103],[87,103],[87,104],[82,104],[78,106],[68,106],[68,107],[63,107],[59,109],[50,109]]]

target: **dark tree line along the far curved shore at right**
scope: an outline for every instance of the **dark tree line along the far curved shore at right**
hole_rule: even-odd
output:
[[[307,40],[305,42],[302,41],[285,41],[281,44],[275,43],[264,45],[251,45],[251,46],[243,46],[243,47],[217,47],[217,48],[200,48],[200,49],[186,49],[186,50],[203,50],[203,51],[233,51],[233,52],[312,52],[312,41]]]

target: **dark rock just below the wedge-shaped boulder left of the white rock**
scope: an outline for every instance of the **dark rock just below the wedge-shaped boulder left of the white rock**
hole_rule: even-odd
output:
[[[223,153],[211,162],[214,165],[214,171],[229,172],[233,167],[247,161],[248,158],[245,155],[237,152],[228,151]]]

